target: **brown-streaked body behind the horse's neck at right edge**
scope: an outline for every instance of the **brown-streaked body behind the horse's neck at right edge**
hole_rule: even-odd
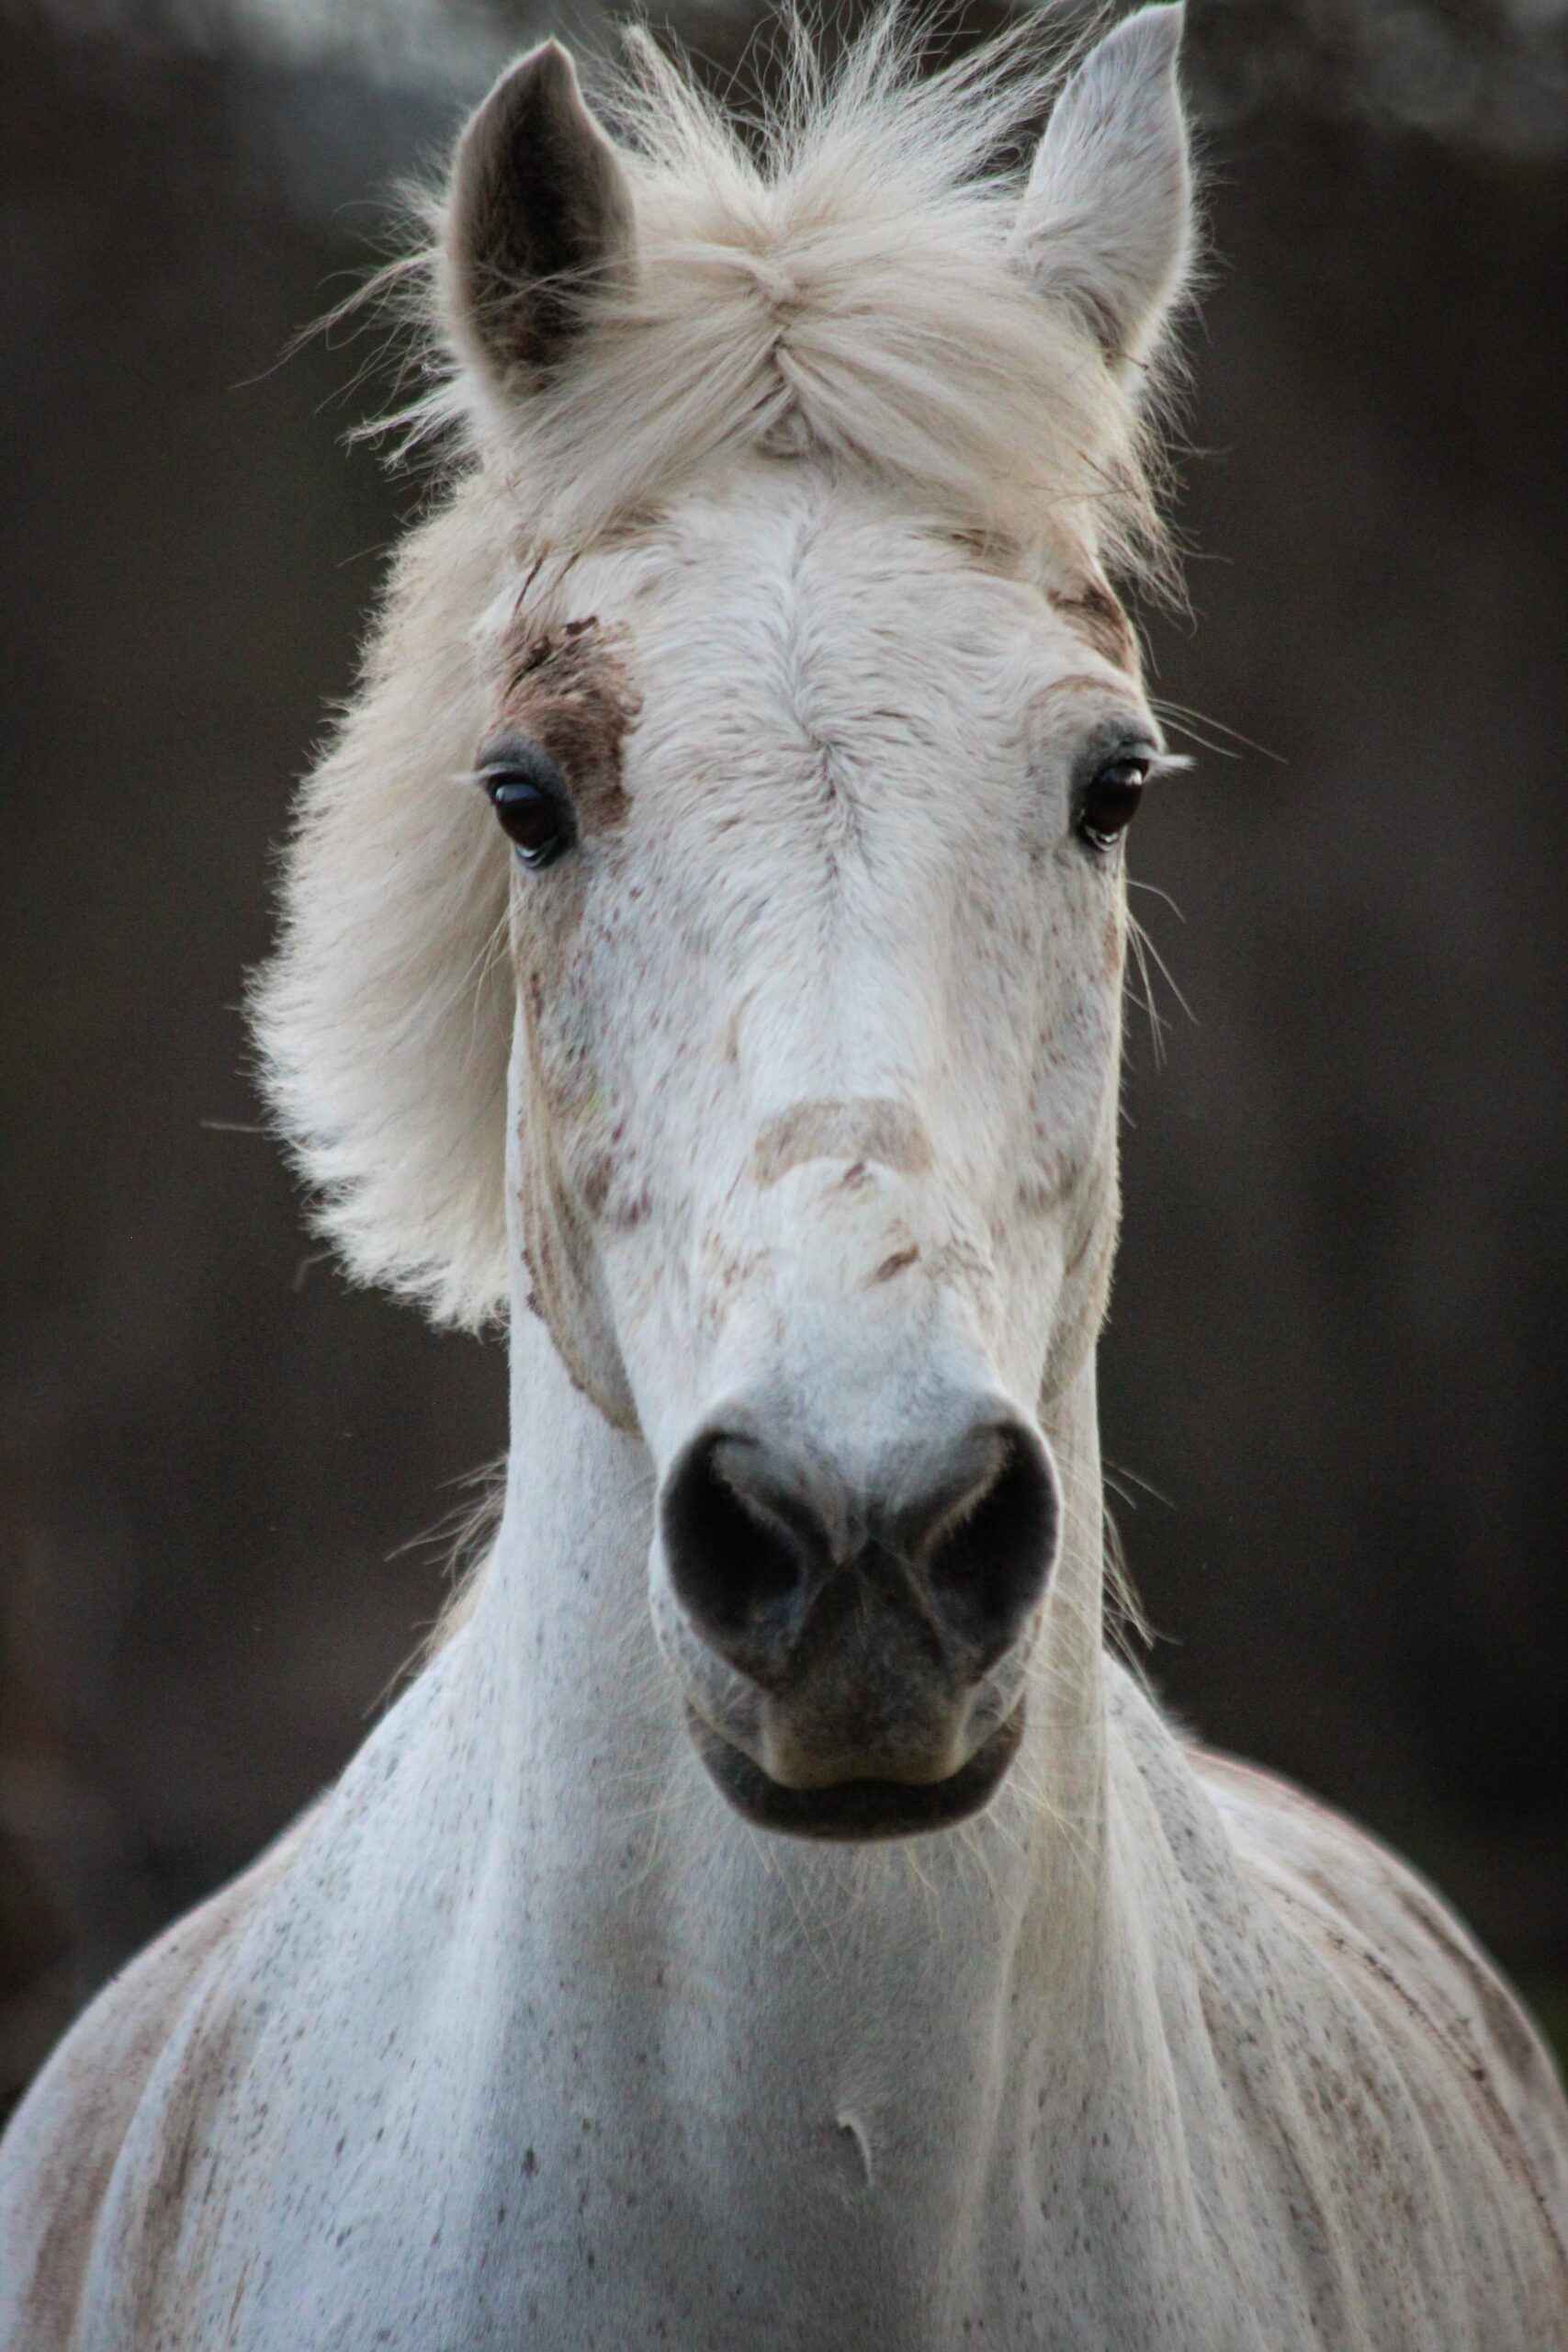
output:
[[[1509,1985],[1436,1891],[1356,1823],[1255,1764],[1187,1755],[1246,1872],[1401,2049],[1422,2107],[1467,2110],[1535,2201],[1568,2310],[1568,2100]]]

